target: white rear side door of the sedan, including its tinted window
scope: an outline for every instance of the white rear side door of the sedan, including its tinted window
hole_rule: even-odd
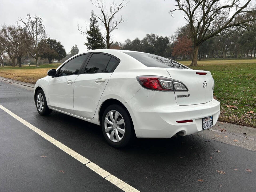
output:
[[[92,53],[87,65],[75,80],[74,113],[92,119],[99,99],[120,60],[109,54]]]

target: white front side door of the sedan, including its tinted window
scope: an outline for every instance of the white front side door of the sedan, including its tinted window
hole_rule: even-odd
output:
[[[54,109],[74,114],[74,82],[89,54],[79,55],[63,65],[48,84],[49,105]]]

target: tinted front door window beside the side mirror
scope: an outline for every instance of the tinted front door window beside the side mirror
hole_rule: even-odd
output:
[[[61,67],[61,69],[59,70],[58,76],[78,74],[80,67],[82,66],[83,62],[87,57],[88,57],[88,54],[80,55],[68,61],[63,67]]]

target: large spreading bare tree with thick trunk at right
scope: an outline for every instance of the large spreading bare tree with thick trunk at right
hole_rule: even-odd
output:
[[[175,10],[184,13],[194,43],[191,66],[197,66],[199,46],[207,39],[230,27],[243,27],[255,20],[255,9],[251,9],[251,0],[175,0],[175,2],[177,8],[169,13],[173,14]]]

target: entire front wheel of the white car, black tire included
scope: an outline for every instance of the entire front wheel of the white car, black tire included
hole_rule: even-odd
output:
[[[51,112],[53,112],[53,110],[48,108],[45,94],[43,93],[42,89],[37,91],[35,96],[35,106],[37,107],[37,112],[40,115],[49,115]]]

